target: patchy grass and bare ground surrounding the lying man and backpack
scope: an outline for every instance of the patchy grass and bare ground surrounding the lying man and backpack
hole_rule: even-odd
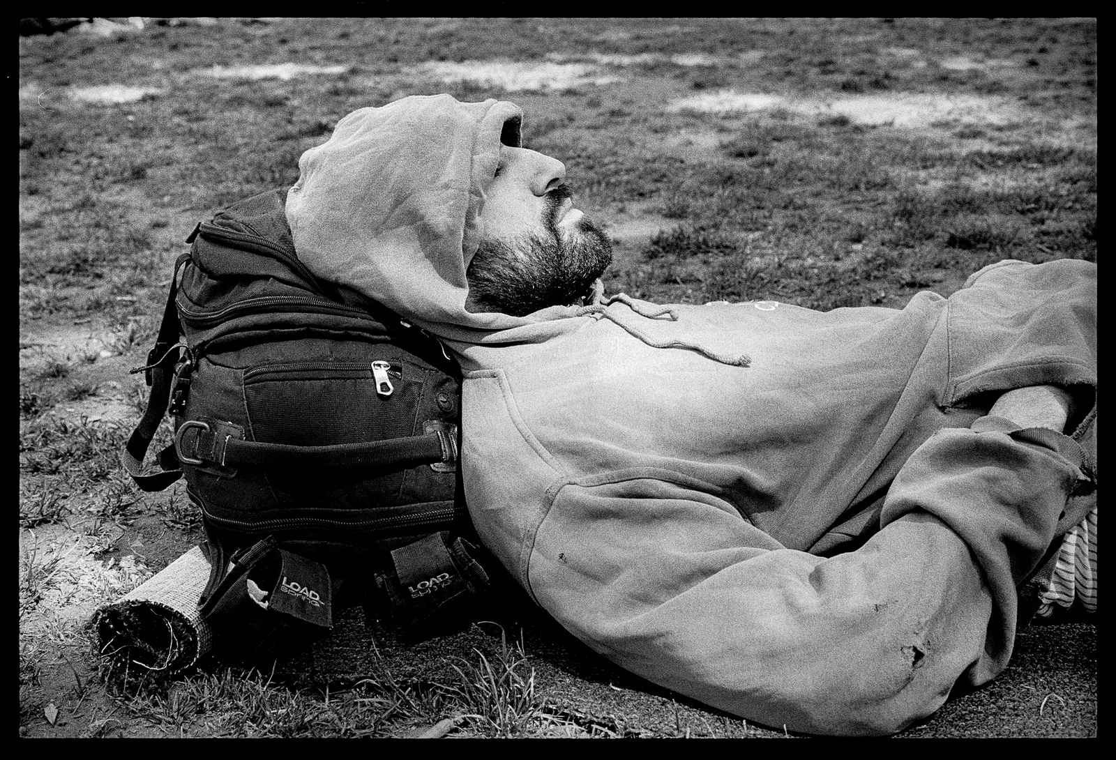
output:
[[[526,612],[501,620],[522,652],[492,626],[405,647],[348,617],[286,680],[97,679],[85,619],[200,538],[181,484],[143,494],[116,460],[174,257],[357,107],[519,103],[616,242],[609,292],[902,306],[1002,258],[1096,260],[1088,19],[115,21],[20,37],[25,735],[782,735]],[[1024,629],[999,680],[903,735],[1093,735],[1095,663],[1091,622]]]

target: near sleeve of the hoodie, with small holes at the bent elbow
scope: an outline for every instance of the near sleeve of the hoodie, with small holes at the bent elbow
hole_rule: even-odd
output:
[[[781,548],[684,483],[568,483],[536,532],[530,588],[604,656],[706,704],[893,733],[959,677],[1007,665],[1016,584],[1054,538],[1079,453],[1050,431],[942,431],[895,480],[885,527],[831,558]]]

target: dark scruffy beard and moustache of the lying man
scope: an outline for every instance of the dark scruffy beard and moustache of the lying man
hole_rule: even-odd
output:
[[[555,217],[554,211],[547,214],[546,235],[481,242],[465,272],[470,311],[523,317],[548,306],[579,304],[593,292],[613,261],[612,241],[584,217],[564,237]]]

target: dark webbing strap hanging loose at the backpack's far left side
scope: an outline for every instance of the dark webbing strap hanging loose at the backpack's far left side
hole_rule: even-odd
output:
[[[181,469],[165,469],[165,464],[170,460],[163,454],[160,455],[160,466],[163,469],[145,474],[143,459],[147,454],[152,439],[155,437],[158,424],[163,421],[163,415],[166,413],[166,405],[171,398],[174,365],[182,353],[181,346],[176,345],[179,343],[179,310],[174,299],[179,292],[179,268],[189,258],[190,253],[183,253],[174,262],[171,288],[166,294],[166,307],[163,309],[163,321],[158,326],[155,347],[147,354],[147,367],[144,369],[151,385],[147,408],[141,417],[140,424],[132,431],[124,451],[121,452],[121,463],[141,491],[162,491],[182,477]]]

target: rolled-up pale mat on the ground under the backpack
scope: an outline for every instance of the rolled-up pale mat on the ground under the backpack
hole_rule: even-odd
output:
[[[173,675],[213,647],[213,631],[198,607],[210,564],[194,547],[165,569],[105,605],[90,620],[97,648],[127,667]]]

